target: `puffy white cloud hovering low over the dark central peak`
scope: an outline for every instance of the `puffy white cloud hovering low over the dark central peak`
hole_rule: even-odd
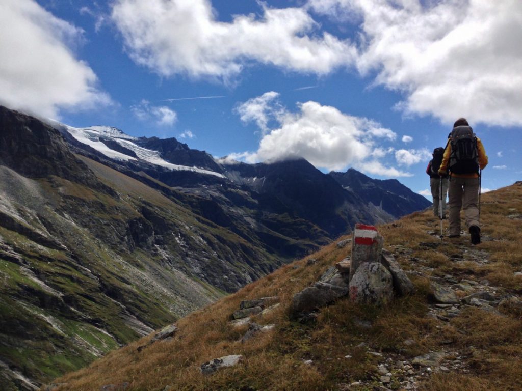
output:
[[[264,132],[256,152],[234,157],[248,163],[304,157],[314,166],[328,170],[353,166],[376,175],[411,175],[378,161],[393,151],[377,145],[394,140],[396,133],[392,130],[313,101],[299,103],[298,110],[291,112],[277,101],[277,96],[271,92],[238,106],[236,112],[242,119],[254,121]],[[267,118],[274,121],[274,127],[267,126]]]

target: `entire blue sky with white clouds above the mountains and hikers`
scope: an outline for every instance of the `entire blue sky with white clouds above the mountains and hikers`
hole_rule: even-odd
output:
[[[521,18],[519,0],[2,0],[0,104],[424,194],[466,117],[496,189],[522,178]]]

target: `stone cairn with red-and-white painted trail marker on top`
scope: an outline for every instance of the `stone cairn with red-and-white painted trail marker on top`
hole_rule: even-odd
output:
[[[309,319],[313,312],[349,294],[356,303],[382,304],[395,294],[413,292],[413,284],[394,256],[383,250],[384,239],[374,226],[355,224],[350,258],[330,267],[313,286],[294,295],[292,317]],[[343,247],[338,246],[338,247]]]

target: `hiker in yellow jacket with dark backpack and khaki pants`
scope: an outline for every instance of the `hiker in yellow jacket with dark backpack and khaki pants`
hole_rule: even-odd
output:
[[[452,153],[452,144],[455,150]],[[479,168],[488,165],[488,156],[482,141],[476,137],[466,118],[459,118],[453,125],[446,150],[442,157],[439,175],[447,174],[449,237],[460,236],[460,209],[464,209],[471,243],[480,243],[479,222]]]

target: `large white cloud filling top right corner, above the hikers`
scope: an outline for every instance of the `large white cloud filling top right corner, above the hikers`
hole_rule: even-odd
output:
[[[360,26],[358,68],[401,90],[406,114],[522,125],[519,0],[310,0]]]

